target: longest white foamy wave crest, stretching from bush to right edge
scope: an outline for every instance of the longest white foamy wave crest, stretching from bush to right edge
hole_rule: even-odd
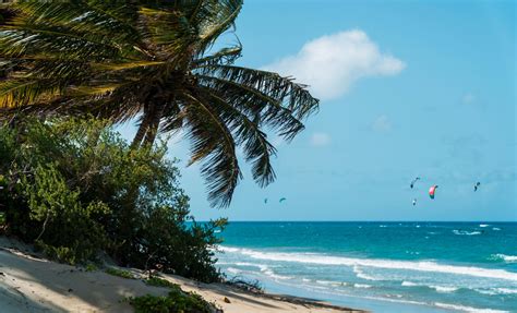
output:
[[[517,273],[504,269],[482,268],[474,266],[457,266],[438,264],[432,261],[395,261],[381,258],[354,258],[344,256],[330,256],[325,254],[304,254],[304,253],[280,253],[280,252],[262,252],[251,249],[227,248],[220,246],[221,251],[238,252],[255,260],[267,260],[276,262],[293,262],[302,264],[320,264],[320,265],[342,265],[351,266],[356,269],[361,267],[388,268],[416,270],[428,273],[455,274],[482,278],[496,278],[504,280],[517,281]],[[360,270],[360,269],[359,269]],[[372,278],[372,277],[371,277]],[[378,280],[374,278],[374,280]]]

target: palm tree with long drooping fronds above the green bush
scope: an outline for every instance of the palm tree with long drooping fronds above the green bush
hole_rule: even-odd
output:
[[[144,4],[144,2],[148,2]],[[0,26],[0,115],[139,118],[133,146],[182,131],[208,198],[227,206],[241,178],[236,148],[264,186],[267,133],[292,140],[317,109],[304,85],[238,67],[240,43],[216,49],[242,0],[20,1]]]

